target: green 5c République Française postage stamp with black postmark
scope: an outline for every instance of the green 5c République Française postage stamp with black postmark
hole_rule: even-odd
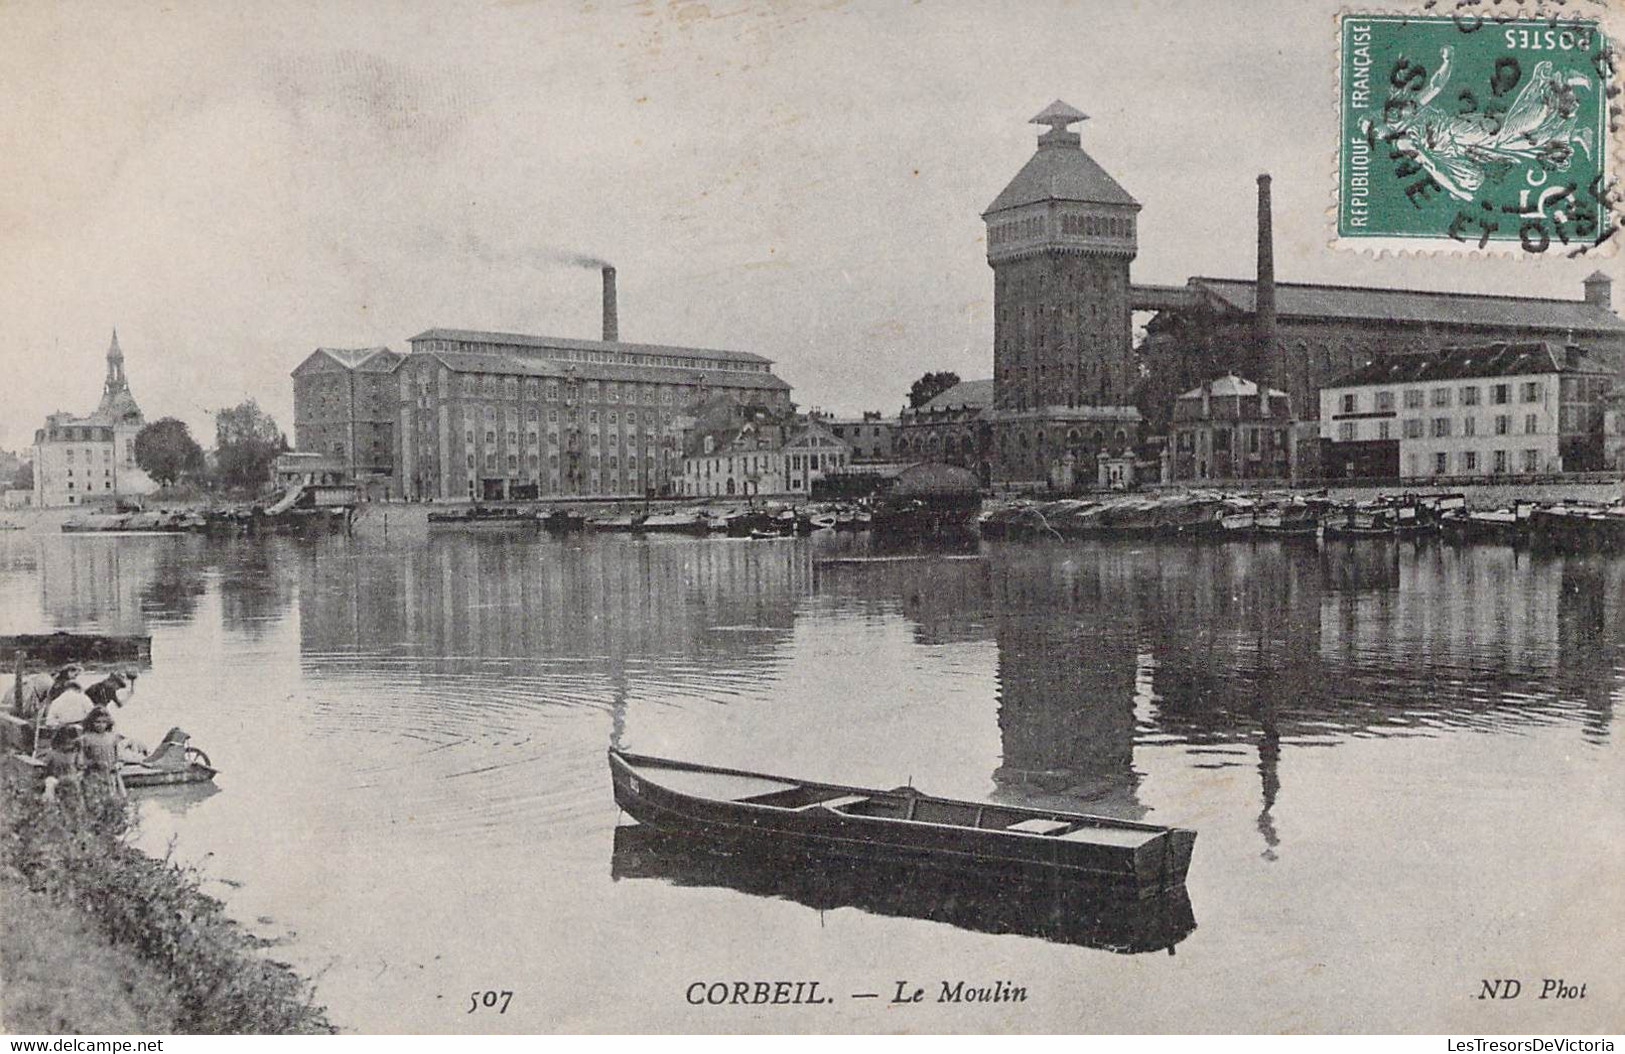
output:
[[[1615,234],[1596,21],[1344,15],[1339,57],[1342,245],[1571,253]]]

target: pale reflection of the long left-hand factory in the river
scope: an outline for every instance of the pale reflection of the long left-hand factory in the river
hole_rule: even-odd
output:
[[[310,658],[408,645],[452,664],[640,654],[749,663],[788,637],[809,581],[811,560],[795,544],[434,536],[384,555],[314,551],[301,568],[299,630]]]

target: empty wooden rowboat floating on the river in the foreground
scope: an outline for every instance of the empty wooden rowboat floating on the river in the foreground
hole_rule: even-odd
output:
[[[1139,898],[1185,885],[1196,832],[1074,812],[876,791],[609,750],[634,820],[723,843],[785,843],[956,872],[1113,887]]]

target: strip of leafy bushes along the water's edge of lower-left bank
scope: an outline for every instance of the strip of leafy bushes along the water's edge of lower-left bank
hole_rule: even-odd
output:
[[[107,801],[75,817],[8,776],[0,810],[0,866],[154,965],[174,989],[174,1031],[335,1031],[312,986],[266,958],[224,905],[200,888],[195,869],[128,844],[125,802]]]

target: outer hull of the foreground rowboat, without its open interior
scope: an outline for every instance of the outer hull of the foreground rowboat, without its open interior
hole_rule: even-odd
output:
[[[1016,817],[1061,817],[1077,822],[1105,823],[1124,843],[1063,841],[1042,835],[1011,833],[1003,828],[962,827],[926,819],[855,815],[838,807],[765,807],[741,801],[715,801],[661,786],[647,773],[660,767],[682,771],[722,773],[793,784],[812,796],[850,796],[863,799],[915,799],[910,814],[930,817],[941,809],[982,809],[990,819],[1004,822]],[[642,767],[640,767],[642,765]],[[858,857],[915,866],[946,867],[959,874],[1006,877],[1012,880],[1063,880],[1110,887],[1134,896],[1154,896],[1183,887],[1190,870],[1196,832],[1159,828],[1144,823],[1103,820],[1081,814],[1019,809],[1011,806],[956,802],[915,791],[876,791],[838,784],[780,781],[738,770],[689,767],[661,758],[640,758],[613,750],[609,754],[616,804],[634,820],[663,832],[704,838],[723,846],[736,844],[752,851],[764,846],[795,846],[816,857]]]

